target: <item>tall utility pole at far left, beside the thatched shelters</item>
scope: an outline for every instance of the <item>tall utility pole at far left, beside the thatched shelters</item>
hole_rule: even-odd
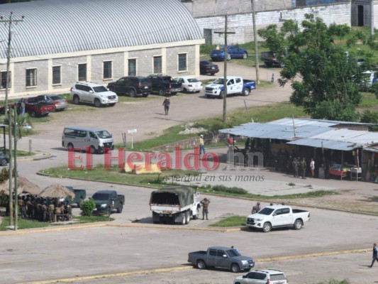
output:
[[[0,23],[8,24],[8,48],[6,50],[6,86],[5,86],[5,114],[8,114],[8,134],[9,134],[9,226],[13,225],[13,192],[12,192],[12,119],[11,119],[11,109],[8,105],[8,95],[9,95],[9,69],[11,65],[11,41],[12,41],[12,23],[18,23],[23,21],[24,16],[21,20],[13,20],[13,12],[10,13],[9,18],[4,20],[3,16],[0,16]],[[16,158],[16,155],[15,155]],[[15,207],[18,204],[15,203]],[[17,210],[16,210],[17,212]],[[17,216],[15,217],[17,218]],[[14,226],[16,229],[16,226]]]

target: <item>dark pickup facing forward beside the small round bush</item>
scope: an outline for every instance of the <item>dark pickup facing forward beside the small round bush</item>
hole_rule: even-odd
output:
[[[95,214],[106,214],[110,217],[113,210],[121,213],[125,204],[125,195],[118,195],[116,190],[100,190],[91,197],[96,204]]]

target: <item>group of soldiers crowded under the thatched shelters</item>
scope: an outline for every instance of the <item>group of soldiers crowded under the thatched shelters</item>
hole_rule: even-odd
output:
[[[63,204],[57,198],[24,195],[18,198],[18,208],[19,217],[40,222],[69,221],[72,217],[70,204]],[[9,205],[6,207],[6,214],[9,215]]]

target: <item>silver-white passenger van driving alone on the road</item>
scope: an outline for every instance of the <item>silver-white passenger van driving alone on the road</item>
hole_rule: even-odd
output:
[[[91,148],[91,153],[104,153],[104,148],[113,150],[114,141],[111,133],[104,129],[81,126],[65,126],[62,146],[66,148]]]

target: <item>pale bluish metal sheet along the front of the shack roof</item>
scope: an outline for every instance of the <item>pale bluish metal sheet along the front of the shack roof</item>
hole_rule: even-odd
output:
[[[323,143],[323,144],[322,144]],[[325,148],[340,151],[351,151],[355,148],[361,148],[359,143],[351,143],[345,141],[331,141],[326,139],[301,138],[295,141],[287,142],[290,145],[309,146],[314,148]]]

